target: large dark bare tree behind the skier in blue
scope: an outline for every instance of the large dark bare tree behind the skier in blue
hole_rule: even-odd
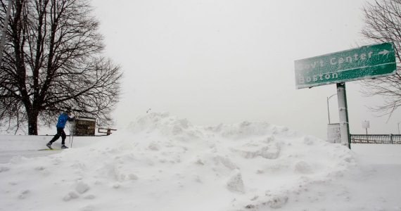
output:
[[[1,0],[4,23],[6,1]],[[0,123],[50,123],[63,108],[110,122],[120,67],[102,56],[98,20],[84,0],[14,0],[0,72]]]

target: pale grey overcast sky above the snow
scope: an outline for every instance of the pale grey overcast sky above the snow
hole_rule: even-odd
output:
[[[366,43],[362,0],[92,0],[106,56],[124,71],[117,127],[170,112],[197,125],[242,121],[288,126],[326,139],[326,98],[336,84],[295,89],[294,60]],[[375,117],[348,82],[350,132],[397,134],[400,112]],[[336,96],[329,101],[338,122]],[[387,123],[386,123],[387,122]]]

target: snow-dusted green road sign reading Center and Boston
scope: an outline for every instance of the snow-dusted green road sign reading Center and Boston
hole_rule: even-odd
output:
[[[297,89],[395,74],[393,43],[295,60]]]

